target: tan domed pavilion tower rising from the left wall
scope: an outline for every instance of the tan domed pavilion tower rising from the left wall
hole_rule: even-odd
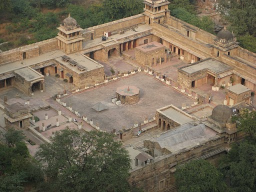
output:
[[[56,38],[58,39],[58,48],[65,53],[71,53],[82,49],[83,37],[82,28],[76,20],[68,14],[62,23],[57,27],[59,30]]]

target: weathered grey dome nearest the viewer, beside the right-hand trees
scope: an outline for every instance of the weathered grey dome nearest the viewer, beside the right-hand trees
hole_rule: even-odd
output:
[[[228,106],[220,104],[213,108],[211,118],[217,122],[226,122],[231,114],[231,109]]]

